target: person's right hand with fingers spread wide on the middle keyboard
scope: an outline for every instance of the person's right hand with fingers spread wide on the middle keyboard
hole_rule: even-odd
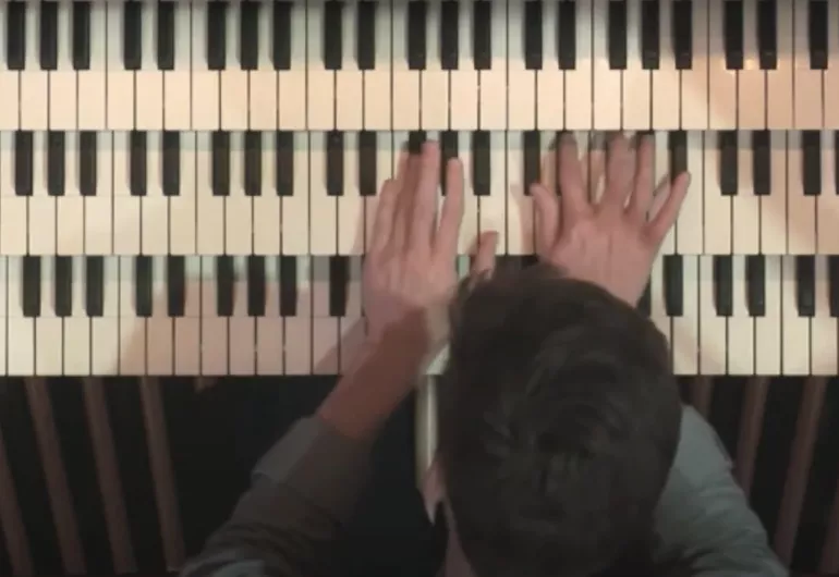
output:
[[[608,145],[607,158],[593,154],[587,167],[574,138],[558,144],[560,197],[535,184],[536,253],[569,277],[603,286],[635,306],[649,279],[653,261],[676,222],[688,192],[689,175],[668,176],[654,192],[654,146],[643,137],[637,150],[622,135]],[[589,200],[605,165],[599,201]]]

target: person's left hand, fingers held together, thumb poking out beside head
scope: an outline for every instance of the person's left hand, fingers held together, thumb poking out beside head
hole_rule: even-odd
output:
[[[363,297],[368,339],[391,329],[422,335],[426,346],[447,333],[447,307],[458,283],[454,268],[463,218],[463,167],[446,167],[447,194],[437,222],[440,149],[426,143],[421,156],[405,155],[397,177],[379,195],[364,263]],[[493,267],[497,235],[483,235],[475,268]]]

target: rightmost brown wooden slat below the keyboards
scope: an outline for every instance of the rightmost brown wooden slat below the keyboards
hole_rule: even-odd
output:
[[[787,566],[792,561],[795,535],[801,520],[826,384],[827,380],[824,378],[810,378],[804,382],[804,394],[795,420],[795,438],[775,531],[775,551]]]

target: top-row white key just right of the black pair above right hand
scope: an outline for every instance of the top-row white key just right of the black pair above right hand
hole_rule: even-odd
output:
[[[592,53],[592,2],[576,2],[576,67],[566,71],[566,130],[569,131],[592,128],[592,101],[595,98],[592,84],[596,58]],[[598,84],[598,89],[600,86]]]

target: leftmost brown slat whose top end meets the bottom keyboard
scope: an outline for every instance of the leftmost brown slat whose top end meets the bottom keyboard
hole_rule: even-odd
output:
[[[83,574],[85,573],[85,561],[82,540],[78,536],[78,525],[61,458],[56,423],[52,419],[47,382],[41,378],[27,378],[24,383],[35,425],[38,452],[44,465],[47,493],[52,508],[52,518],[56,523],[64,570],[74,575]]]

